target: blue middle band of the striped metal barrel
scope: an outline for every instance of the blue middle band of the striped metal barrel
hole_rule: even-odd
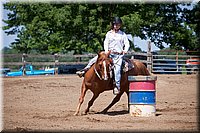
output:
[[[155,91],[130,91],[129,104],[155,104]]]

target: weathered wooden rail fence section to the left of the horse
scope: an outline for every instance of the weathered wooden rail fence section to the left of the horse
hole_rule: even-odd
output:
[[[24,63],[35,66],[55,66],[59,64],[87,64],[95,55],[40,55],[40,54],[4,54],[3,66],[21,66]],[[9,60],[9,61],[8,61]]]

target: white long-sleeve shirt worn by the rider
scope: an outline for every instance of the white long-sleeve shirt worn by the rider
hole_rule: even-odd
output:
[[[118,53],[122,53],[123,51],[127,52],[129,47],[130,44],[128,38],[123,31],[119,30],[115,33],[110,30],[106,33],[106,38],[104,40],[105,52],[108,52],[108,50]]]

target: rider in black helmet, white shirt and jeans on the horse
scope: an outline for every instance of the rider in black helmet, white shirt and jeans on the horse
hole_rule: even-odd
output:
[[[122,20],[119,17],[114,17],[112,21],[111,30],[107,32],[106,38],[104,40],[104,50],[105,53],[110,53],[110,58],[113,60],[114,64],[114,78],[115,78],[115,88],[113,93],[119,94],[120,92],[120,80],[121,80],[121,66],[124,54],[129,50],[130,44],[126,34],[120,30],[122,26]],[[85,72],[94,64],[98,56],[91,59],[88,65],[81,71],[76,72],[79,77],[82,77]]]

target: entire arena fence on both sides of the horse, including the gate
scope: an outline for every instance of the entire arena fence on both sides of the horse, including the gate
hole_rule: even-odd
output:
[[[174,55],[154,54],[151,52],[151,43],[148,42],[148,50],[146,53],[130,52],[126,55],[128,58],[137,59],[143,62],[148,70],[152,73],[170,73],[184,74],[199,71],[200,56],[199,55],[181,55],[181,52],[176,52]],[[39,54],[4,54],[3,67],[15,69],[25,65],[26,63],[36,66],[35,68],[54,67],[60,65],[86,65],[88,61],[96,56],[96,54],[87,55],[39,55]],[[188,63],[187,61],[193,61]],[[72,66],[73,67],[73,66]],[[71,68],[71,67],[70,67]],[[80,67],[79,67],[80,68]],[[78,69],[79,69],[78,68]]]

